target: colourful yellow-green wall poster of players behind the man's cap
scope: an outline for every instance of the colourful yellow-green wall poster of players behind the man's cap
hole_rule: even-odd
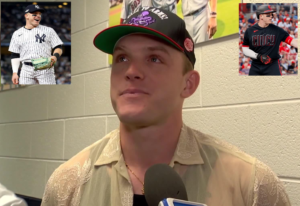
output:
[[[109,0],[109,27],[121,24],[142,6],[162,8],[185,21],[195,44],[238,33],[241,0]],[[211,29],[208,29],[210,26]],[[112,56],[109,55],[109,64]]]

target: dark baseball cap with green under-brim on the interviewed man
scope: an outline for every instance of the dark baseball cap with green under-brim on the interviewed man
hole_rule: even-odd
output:
[[[194,42],[185,27],[185,22],[176,14],[154,7],[141,7],[123,21],[98,33],[94,45],[107,54],[113,54],[116,43],[122,37],[143,33],[158,37],[183,52],[192,63],[196,62]]]

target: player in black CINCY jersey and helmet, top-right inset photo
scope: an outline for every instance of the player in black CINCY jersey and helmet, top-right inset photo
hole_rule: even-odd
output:
[[[279,45],[285,42],[298,48],[298,41],[282,28],[272,24],[271,6],[261,5],[256,11],[258,23],[245,33],[243,52],[252,58],[249,75],[281,75]]]

